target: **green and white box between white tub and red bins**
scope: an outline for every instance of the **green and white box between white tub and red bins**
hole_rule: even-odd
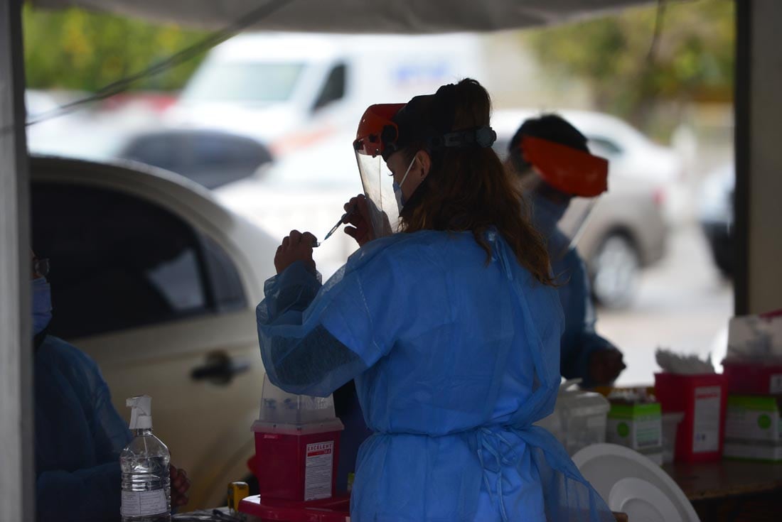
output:
[[[634,449],[662,465],[662,409],[659,402],[613,402],[605,441]]]

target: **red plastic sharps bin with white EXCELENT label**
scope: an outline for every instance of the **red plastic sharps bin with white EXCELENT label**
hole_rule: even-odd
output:
[[[293,431],[279,426],[267,430],[253,427],[256,452],[253,471],[258,477],[258,491],[264,502],[267,499],[307,502],[332,498],[342,429],[339,420]]]

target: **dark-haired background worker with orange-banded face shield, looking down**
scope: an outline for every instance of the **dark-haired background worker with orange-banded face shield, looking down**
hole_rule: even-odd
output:
[[[522,123],[508,152],[510,170],[521,181],[533,224],[546,238],[565,313],[561,374],[581,378],[587,387],[611,384],[625,368],[622,352],[594,329],[587,269],[576,252],[579,232],[597,196],[608,190],[608,162],[592,156],[587,138],[555,114]]]

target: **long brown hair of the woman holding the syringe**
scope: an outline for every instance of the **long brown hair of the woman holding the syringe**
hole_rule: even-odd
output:
[[[450,130],[489,125],[491,101],[481,84],[465,79],[450,87],[454,100]],[[521,191],[497,153],[478,146],[431,150],[424,141],[401,152],[412,161],[419,150],[429,152],[432,166],[417,190],[422,191],[417,194],[418,201],[402,213],[400,231],[472,231],[475,241],[486,250],[488,262],[491,247],[485,233],[494,227],[508,241],[521,266],[537,281],[553,285],[543,236],[532,226]]]

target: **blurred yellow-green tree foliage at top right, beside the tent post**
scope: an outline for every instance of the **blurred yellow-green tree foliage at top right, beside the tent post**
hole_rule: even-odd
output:
[[[671,102],[733,99],[734,1],[666,2],[650,55],[656,7],[527,31],[522,38],[555,73],[587,82],[598,109],[639,127]]]

